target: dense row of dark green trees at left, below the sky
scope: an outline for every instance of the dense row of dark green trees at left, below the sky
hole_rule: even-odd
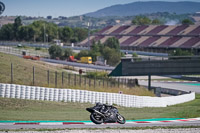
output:
[[[3,25],[0,29],[0,40],[52,42],[54,39],[65,43],[76,43],[87,38],[88,29],[58,27],[46,21],[35,21],[30,25],[23,25],[21,18],[17,17],[13,24]]]

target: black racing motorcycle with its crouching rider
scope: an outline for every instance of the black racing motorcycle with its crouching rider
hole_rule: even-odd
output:
[[[96,103],[94,107],[86,108],[90,112],[90,120],[95,124],[126,122],[125,118],[119,114],[118,109],[112,105]]]

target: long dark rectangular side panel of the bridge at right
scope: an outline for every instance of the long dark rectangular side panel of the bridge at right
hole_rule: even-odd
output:
[[[198,58],[152,61],[122,59],[121,63],[121,76],[200,74],[200,59]]]

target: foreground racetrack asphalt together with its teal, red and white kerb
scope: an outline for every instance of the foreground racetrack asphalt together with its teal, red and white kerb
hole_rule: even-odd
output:
[[[0,129],[76,129],[76,128],[130,128],[200,126],[200,118],[159,118],[127,120],[126,124],[106,123],[95,125],[91,121],[0,121]]]

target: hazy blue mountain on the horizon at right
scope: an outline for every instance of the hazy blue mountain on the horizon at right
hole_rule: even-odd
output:
[[[133,2],[124,5],[114,5],[100,9],[96,12],[85,14],[90,17],[106,16],[134,16],[146,13],[169,12],[169,13],[195,13],[200,11],[200,2]]]

